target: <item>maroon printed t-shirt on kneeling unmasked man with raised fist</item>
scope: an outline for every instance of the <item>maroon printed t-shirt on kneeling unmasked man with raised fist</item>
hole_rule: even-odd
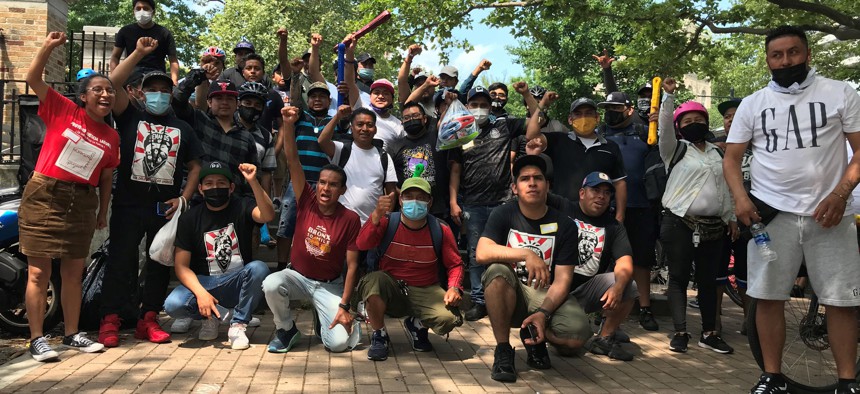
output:
[[[343,272],[346,251],[358,251],[358,214],[338,203],[334,214],[323,215],[317,205],[317,193],[307,182],[296,211],[296,233],[290,251],[293,269],[311,279],[337,278]]]

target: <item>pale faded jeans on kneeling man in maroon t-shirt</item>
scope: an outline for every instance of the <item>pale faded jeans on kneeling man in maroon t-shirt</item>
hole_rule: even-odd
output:
[[[309,279],[298,271],[287,268],[266,277],[263,281],[263,293],[269,308],[272,309],[275,328],[293,328],[294,316],[290,310],[290,301],[311,300],[319,314],[320,337],[326,348],[339,353],[358,345],[361,339],[361,326],[358,323],[353,323],[352,334],[347,333],[339,324],[333,329],[328,328],[340,309],[338,304],[343,296],[342,277],[325,283]]]

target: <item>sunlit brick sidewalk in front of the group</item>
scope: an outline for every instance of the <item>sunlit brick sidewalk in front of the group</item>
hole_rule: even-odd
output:
[[[448,342],[431,333],[435,352],[417,353],[407,342],[402,320],[388,319],[392,352],[387,361],[367,360],[367,326],[363,344],[349,353],[331,354],[314,337],[309,311],[299,311],[298,327],[304,334],[287,354],[270,354],[266,344],[273,335],[271,314],[259,316],[262,326],[250,328],[252,347],[244,351],[229,348],[227,328],[222,326],[216,341],[197,339],[199,323],[188,334],[174,335],[173,342],[155,345],[134,339],[133,331],[122,332],[119,348],[104,353],[61,352],[60,361],[39,364],[25,355],[0,369],[31,368],[0,392],[60,393],[246,393],[271,392],[747,392],[758,380],[759,369],[740,328],[740,309],[725,299],[723,331],[735,348],[721,355],[696,346],[700,320],[689,309],[689,327],[694,339],[686,354],[668,350],[669,318],[658,318],[661,330],[647,332],[630,320],[624,329],[632,337],[636,359],[612,361],[590,353],[562,358],[550,350],[553,369],[532,370],[525,362],[525,350],[512,330],[516,347],[519,380],[503,384],[490,378],[493,340],[489,320],[467,322],[451,333]],[[169,318],[162,323],[169,327]],[[92,337],[92,336],[91,336]]]

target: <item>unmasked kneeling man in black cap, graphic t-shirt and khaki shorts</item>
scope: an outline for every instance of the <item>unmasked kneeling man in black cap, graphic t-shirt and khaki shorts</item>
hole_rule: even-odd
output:
[[[482,282],[498,343],[492,378],[502,382],[517,380],[508,342],[511,327],[521,328],[527,362],[538,369],[551,368],[544,340],[578,348],[592,335],[585,312],[575,300],[568,301],[578,262],[577,227],[566,214],[547,206],[546,169],[540,156],[514,163],[517,199],[490,213],[478,241],[478,263],[492,264]]]

